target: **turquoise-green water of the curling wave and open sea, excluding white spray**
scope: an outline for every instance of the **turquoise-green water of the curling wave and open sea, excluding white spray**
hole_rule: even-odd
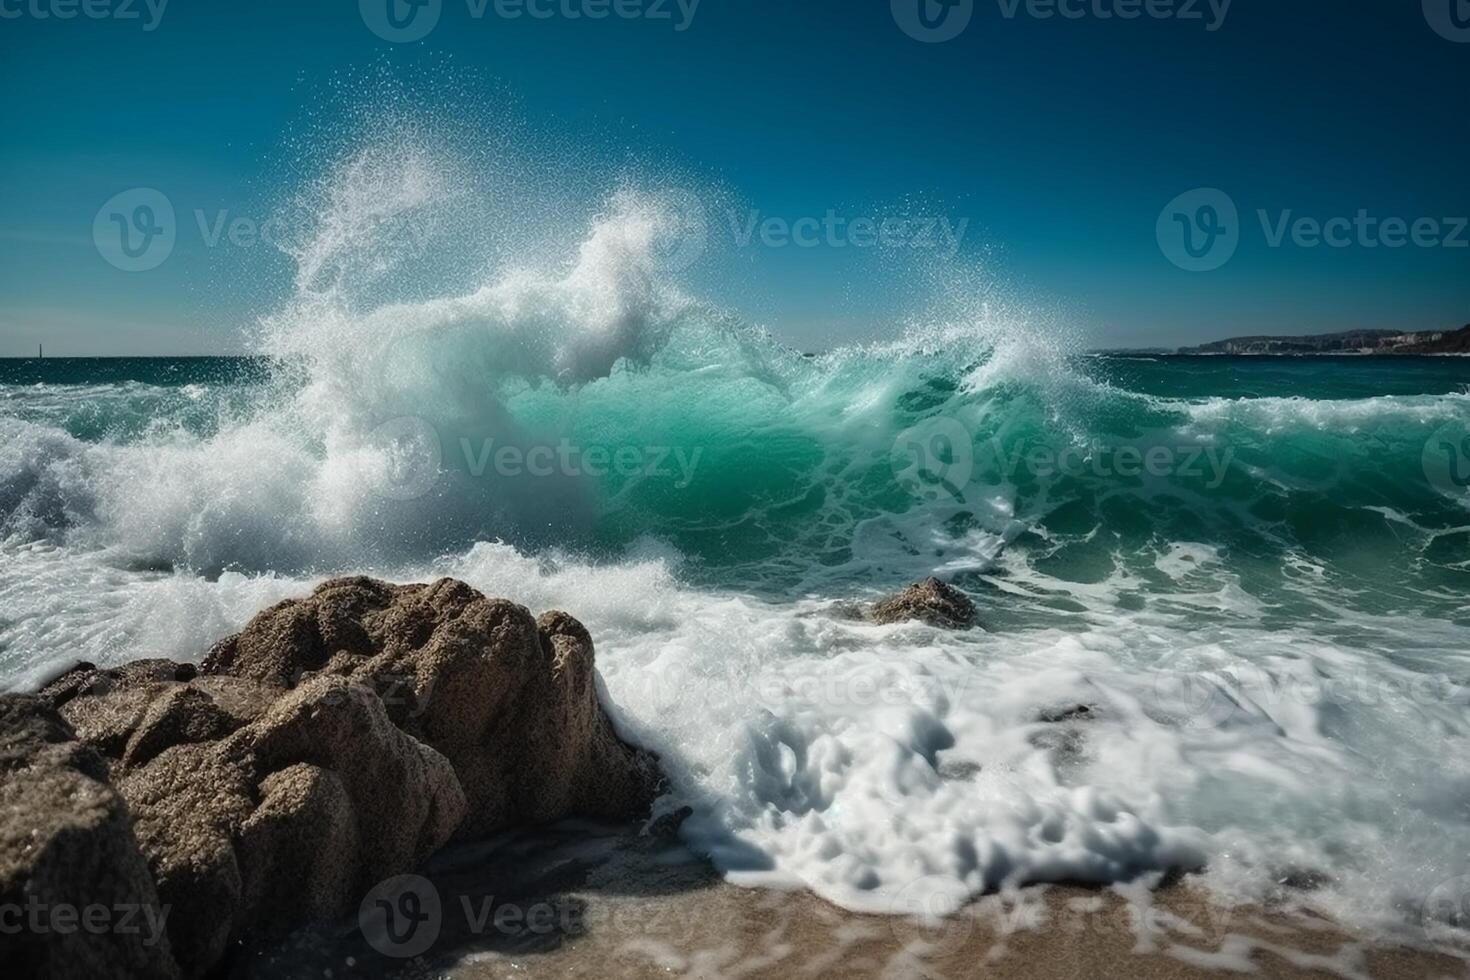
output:
[[[691,360],[710,354],[711,344],[719,363]],[[766,350],[753,354],[757,344]],[[992,357],[985,350],[804,357],[764,338],[711,331],[698,350],[675,342],[647,363],[570,389],[491,373],[482,397],[506,406],[492,420],[442,413],[434,391],[415,416],[431,422],[444,470],[444,485],[426,495],[487,498],[488,513],[456,504],[440,516],[440,523],[453,517],[450,526],[423,529],[422,544],[407,547],[428,557],[490,536],[617,555],[656,535],[692,560],[694,580],[781,595],[888,586],[956,558],[964,564],[972,536],[995,532],[1013,560],[1061,582],[1130,570],[1141,580],[1123,601],[1142,604],[1150,579],[1161,585],[1154,560],[1192,541],[1222,548],[1247,591],[1285,604],[1286,617],[1320,611],[1288,588],[1291,561],[1305,560],[1367,611],[1470,621],[1463,598],[1470,532],[1454,492],[1470,478],[1470,457],[1454,438],[1470,417],[1470,359],[1072,357],[1051,364],[1055,373],[969,389],[967,379]],[[303,388],[298,370],[268,359],[0,361],[6,417],[109,447],[215,438]],[[467,401],[463,391],[453,394]],[[938,469],[953,461],[944,438],[923,442],[923,426],[936,419],[969,433],[963,486],[931,486],[904,472],[914,458],[907,453]],[[642,450],[639,466],[660,472],[619,473],[609,464],[601,476],[497,473],[484,466],[487,441],[506,444],[507,430],[522,450],[560,439],[609,454]],[[913,438],[901,438],[906,432]],[[1064,450],[1076,453],[1067,470],[1025,461]],[[1117,475],[1111,463],[1120,450],[1163,453],[1169,469]],[[579,469],[570,458],[573,466],[560,469]],[[525,485],[531,491],[520,492]],[[4,485],[6,530],[68,530],[66,507],[51,511],[54,522],[37,520],[41,501],[28,498],[26,486],[24,475]],[[1000,488],[1023,516],[1020,526],[970,500]],[[941,511],[922,560],[863,554],[854,533]],[[903,552],[904,535],[894,533]],[[331,570],[307,554],[157,544],[150,560],[209,574]],[[369,544],[362,557],[382,554]],[[980,572],[958,574],[985,589]],[[1041,605],[1067,611],[1064,599]]]

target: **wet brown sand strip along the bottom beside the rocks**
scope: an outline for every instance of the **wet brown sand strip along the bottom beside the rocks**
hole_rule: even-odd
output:
[[[1225,908],[1188,880],[1028,887],[958,911],[926,884],[897,898],[913,915],[857,915],[807,892],[736,887],[673,843],[569,824],[456,848],[423,877],[365,896],[365,908],[400,912],[397,929],[369,911],[243,954],[231,976],[1470,977],[1464,955],[1366,942],[1310,914]],[[941,911],[951,914],[925,917]]]

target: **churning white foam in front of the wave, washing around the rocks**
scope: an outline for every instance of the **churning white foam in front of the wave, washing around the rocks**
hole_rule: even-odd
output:
[[[692,805],[686,837],[736,882],[883,912],[908,908],[914,887],[1207,864],[1205,882],[1242,901],[1319,874],[1324,887],[1298,901],[1394,930],[1467,873],[1470,695],[1454,677],[1470,658],[1448,626],[1374,624],[1413,635],[1445,671],[1424,680],[1396,649],[1198,633],[1102,602],[1080,632],[867,626],[819,599],[691,589],[659,545],[597,566],[481,544],[379,572],[575,610],[623,735],[664,758],[662,807]],[[74,658],[197,658],[313,582],[9,550],[6,671],[35,683]],[[18,663],[22,649],[32,660]]]

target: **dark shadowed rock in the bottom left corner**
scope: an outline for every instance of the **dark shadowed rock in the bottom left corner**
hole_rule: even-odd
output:
[[[176,977],[165,908],[107,764],[44,699],[0,696],[0,976]]]

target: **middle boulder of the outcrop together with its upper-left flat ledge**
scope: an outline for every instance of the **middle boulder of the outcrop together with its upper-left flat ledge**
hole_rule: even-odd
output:
[[[463,820],[448,761],[370,688],[193,674],[84,667],[43,692],[110,760],[187,976],[245,936],[347,912]]]

